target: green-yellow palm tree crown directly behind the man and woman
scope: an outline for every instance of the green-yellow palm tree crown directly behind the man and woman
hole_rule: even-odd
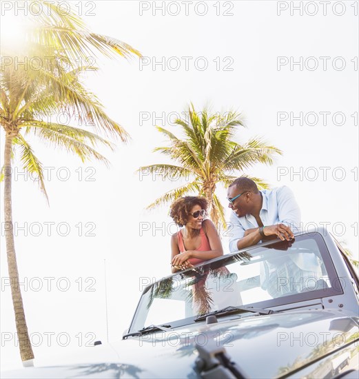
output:
[[[261,139],[250,139],[243,144],[232,141],[237,128],[244,126],[242,117],[237,112],[209,114],[205,109],[200,114],[191,104],[187,114],[189,120],[175,121],[184,132],[184,139],[179,139],[163,127],[157,127],[157,130],[169,139],[170,146],[156,147],[154,151],[170,156],[177,165],[143,166],[139,172],[156,173],[163,178],[190,178],[189,183],[163,194],[147,209],[196,192],[207,198],[209,215],[214,224],[219,223],[226,227],[224,208],[216,196],[217,184],[228,187],[237,177],[233,175],[235,172],[244,175],[243,172],[255,163],[271,164],[273,156],[282,152]],[[261,179],[252,179],[260,189],[267,188],[267,184]]]

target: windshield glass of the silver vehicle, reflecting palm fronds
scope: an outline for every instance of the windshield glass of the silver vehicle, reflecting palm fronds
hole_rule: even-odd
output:
[[[130,331],[188,325],[225,307],[271,308],[342,293],[322,236],[259,245],[179,272],[143,291]]]

